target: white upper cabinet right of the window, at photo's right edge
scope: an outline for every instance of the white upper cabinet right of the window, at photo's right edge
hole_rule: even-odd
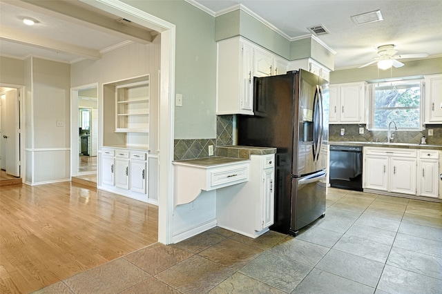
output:
[[[425,76],[425,124],[442,124],[442,75]]]

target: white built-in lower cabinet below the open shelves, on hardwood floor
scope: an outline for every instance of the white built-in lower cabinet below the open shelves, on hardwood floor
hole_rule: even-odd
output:
[[[148,195],[147,152],[124,148],[102,148],[101,156],[98,188],[157,204],[157,197],[151,199]]]

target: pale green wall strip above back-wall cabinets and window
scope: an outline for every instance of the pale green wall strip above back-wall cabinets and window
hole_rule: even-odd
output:
[[[330,84],[347,83],[352,81],[370,81],[373,79],[388,79],[390,77],[413,77],[432,75],[442,72],[442,57],[403,62],[405,66],[392,70],[378,70],[376,65],[366,68],[352,68],[330,72]]]

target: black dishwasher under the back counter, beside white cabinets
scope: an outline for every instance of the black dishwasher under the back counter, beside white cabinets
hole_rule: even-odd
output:
[[[330,186],[362,191],[362,147],[330,145]]]

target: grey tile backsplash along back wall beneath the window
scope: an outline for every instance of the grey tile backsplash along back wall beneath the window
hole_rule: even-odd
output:
[[[359,134],[359,128],[364,128],[364,133]],[[345,129],[345,135],[340,135],[340,129]],[[428,136],[428,130],[433,130],[433,135]],[[442,145],[442,125],[427,125],[422,131],[401,131],[394,130],[395,143],[421,143],[422,136],[425,135],[427,144]],[[387,141],[387,131],[369,131],[365,125],[359,124],[331,124],[329,125],[329,141],[363,141],[363,142]]]

